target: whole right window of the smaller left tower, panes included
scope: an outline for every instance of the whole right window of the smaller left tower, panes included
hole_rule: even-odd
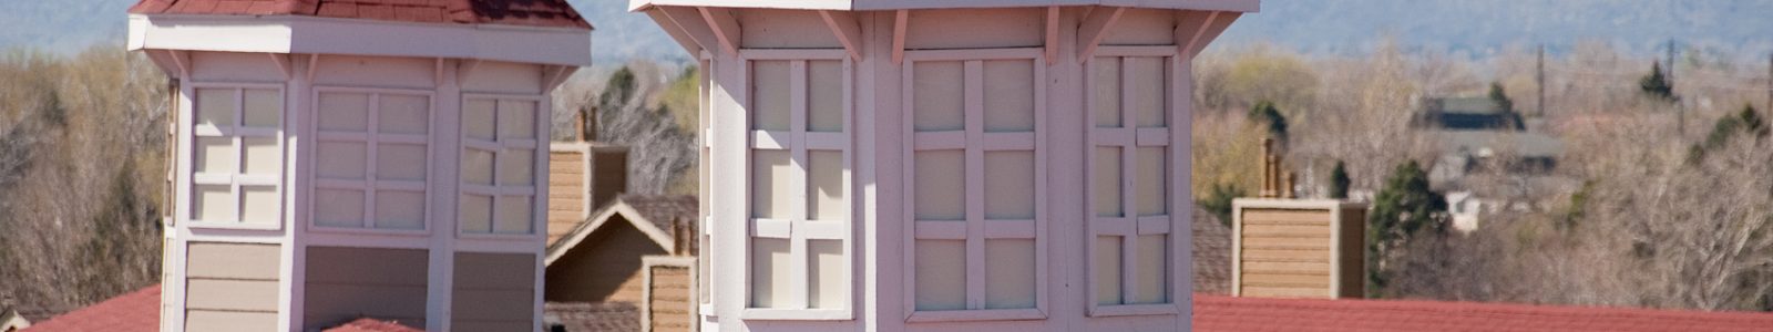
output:
[[[468,95],[461,106],[461,233],[535,235],[541,97]]]

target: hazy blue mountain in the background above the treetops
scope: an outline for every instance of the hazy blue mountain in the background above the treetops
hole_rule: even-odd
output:
[[[569,0],[598,26],[599,64],[629,58],[686,60],[688,55],[628,0]],[[96,42],[122,42],[124,9],[135,0],[0,2],[0,48],[73,53]],[[1683,49],[1761,58],[1773,51],[1773,0],[1264,0],[1262,12],[1238,21],[1216,48],[1268,41],[1307,53],[1360,53],[1381,37],[1413,48],[1475,58],[1518,44],[1553,51],[1578,41],[1605,41],[1633,53]]]

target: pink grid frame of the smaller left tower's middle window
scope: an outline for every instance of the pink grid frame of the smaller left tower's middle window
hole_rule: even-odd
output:
[[[307,120],[307,124],[303,124],[305,131],[310,134],[310,138],[314,138],[312,140],[314,147],[310,150],[312,155],[309,155],[309,157],[314,162],[319,162],[316,157],[319,155],[319,143],[321,141],[351,141],[351,143],[363,143],[363,150],[365,150],[365,161],[363,162],[365,164],[363,164],[363,180],[355,180],[358,184],[349,184],[353,180],[326,180],[326,178],[321,178],[319,177],[319,168],[316,168],[316,164],[310,164],[309,177],[307,177],[309,184],[305,185],[307,192],[310,196],[316,194],[316,192],[319,192],[321,189],[363,191],[363,226],[360,226],[360,228],[342,228],[342,226],[324,226],[324,224],[319,224],[319,217],[317,217],[319,214],[316,214],[316,208],[319,208],[319,203],[314,201],[314,200],[309,200],[309,207],[307,207],[309,208],[309,221],[307,221],[309,231],[316,231],[316,233],[406,235],[406,237],[431,235],[431,224],[434,223],[434,215],[431,215],[431,205],[436,205],[436,200],[433,200],[433,189],[434,189],[434,185],[433,185],[431,178],[438,177],[438,166],[434,162],[434,159],[438,155],[438,147],[436,147],[436,122],[438,122],[438,117],[436,117],[436,111],[438,111],[436,92],[434,90],[418,90],[418,88],[369,88],[369,87],[326,87],[326,85],[314,85],[314,88],[310,88],[310,90],[312,92],[310,92],[310,108],[309,108],[309,111],[310,111],[312,117],[309,117],[310,120]],[[365,97],[369,97],[369,104],[367,104],[367,108],[369,108],[367,111],[369,113],[363,115],[365,117],[365,124],[363,124],[362,138],[353,138],[353,136],[358,136],[358,132],[324,132],[324,131],[321,131],[321,94],[363,94]],[[381,95],[424,95],[426,97],[426,104],[427,104],[427,108],[426,108],[426,117],[427,117],[426,118],[426,134],[381,134],[381,132],[376,132],[378,131],[378,125],[376,125],[378,124],[378,115],[381,111],[381,102],[378,102],[378,101],[381,101]],[[406,138],[392,140],[390,141],[390,143],[401,143],[401,145],[418,145],[420,140],[415,140],[415,138],[417,136],[424,136],[422,145],[426,145],[426,180],[381,180],[381,178],[374,177],[376,175],[376,157],[378,157],[376,155],[376,145],[383,143],[383,140],[381,140],[383,136],[406,136]],[[383,187],[383,184],[378,184],[378,182],[390,182],[388,184],[390,187]],[[404,182],[404,184],[399,184],[399,182]],[[424,198],[424,203],[426,203],[420,208],[420,219],[418,219],[420,228],[417,228],[417,230],[376,228],[376,191],[408,191],[408,192],[418,191],[418,196]]]

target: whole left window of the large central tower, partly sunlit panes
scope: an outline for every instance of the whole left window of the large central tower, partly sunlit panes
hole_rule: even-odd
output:
[[[849,320],[851,62],[842,49],[746,53],[748,320]]]

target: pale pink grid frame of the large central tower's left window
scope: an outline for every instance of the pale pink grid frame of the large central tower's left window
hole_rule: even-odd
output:
[[[745,253],[739,254],[741,256],[741,263],[739,265],[743,267],[739,270],[741,270],[741,277],[743,277],[743,284],[745,284],[739,290],[739,297],[743,298],[741,300],[743,302],[743,309],[739,311],[739,320],[798,320],[798,321],[853,320],[855,318],[855,302],[856,302],[856,291],[855,291],[855,281],[856,281],[856,274],[855,274],[855,267],[856,267],[856,263],[855,263],[856,261],[856,256],[855,256],[855,253],[856,253],[855,251],[855,223],[858,221],[856,208],[855,208],[855,205],[856,205],[856,185],[855,185],[855,178],[856,178],[856,171],[855,171],[856,170],[856,164],[855,164],[855,154],[856,152],[855,150],[856,150],[856,147],[855,147],[855,140],[853,140],[853,134],[856,132],[856,129],[855,129],[856,127],[856,122],[855,122],[855,118],[856,118],[855,117],[855,111],[856,111],[856,104],[855,104],[855,90],[856,90],[856,72],[855,72],[855,69],[856,69],[856,62],[853,58],[849,58],[849,55],[844,49],[741,49],[738,60],[739,60],[738,64],[745,65],[745,71],[741,71],[743,76],[739,78],[739,81],[743,81],[743,85],[745,85],[743,87],[743,90],[745,90],[745,101],[746,101],[745,102],[746,104],[745,109],[748,113],[754,111],[754,104],[757,102],[755,97],[754,97],[754,88],[755,87],[752,85],[752,76],[754,76],[754,72],[752,72],[752,62],[757,62],[757,60],[785,60],[785,62],[789,62],[789,67],[791,67],[789,69],[789,85],[791,85],[789,90],[791,90],[791,99],[793,99],[793,108],[789,109],[789,118],[791,120],[789,120],[789,131],[787,132],[752,129],[752,118],[750,117],[746,117],[746,120],[743,124],[739,124],[739,127],[736,127],[736,129],[743,131],[745,138],[746,138],[746,143],[743,147],[743,150],[745,150],[745,162],[743,162],[745,166],[743,168],[745,168],[745,175],[746,177],[739,178],[741,187],[745,187],[746,192],[750,192],[752,187],[754,187],[754,180],[752,180],[754,173],[752,171],[754,171],[754,152],[755,150],[787,150],[789,155],[791,155],[791,161],[794,164],[801,164],[800,170],[791,171],[793,175],[789,175],[789,178],[791,178],[789,180],[791,192],[796,192],[796,194],[793,194],[789,198],[789,215],[791,217],[787,221],[769,221],[769,219],[752,217],[752,200],[754,198],[750,194],[746,194],[743,201],[738,201],[741,207],[745,207],[743,223],[745,223],[745,230],[746,230],[745,235],[741,237]],[[844,122],[844,131],[842,132],[808,132],[807,131],[807,122],[810,118],[808,99],[807,99],[808,94],[810,94],[808,92],[810,90],[808,88],[808,81],[807,81],[807,71],[808,71],[807,62],[812,62],[812,60],[839,60],[839,62],[842,62],[842,71],[844,71],[844,78],[842,78],[844,79],[844,88],[842,88],[844,90],[844,95],[842,95],[842,99],[844,99],[844,111],[842,111],[844,113],[844,120],[842,120]],[[816,138],[808,140],[808,136],[816,136]],[[817,145],[816,147],[808,147],[808,145],[812,145],[808,141],[817,141]],[[842,214],[846,217],[840,223],[837,223],[835,226],[830,226],[826,230],[810,230],[814,233],[837,233],[837,235],[840,235],[839,238],[830,238],[830,235],[824,235],[824,237],[819,237],[819,238],[808,238],[800,230],[796,230],[796,228],[805,228],[807,223],[810,221],[805,215],[807,214],[807,203],[808,203],[808,196],[807,196],[807,173],[810,171],[810,168],[807,168],[805,164],[810,162],[810,150],[840,150],[844,154],[844,157],[842,157],[844,159],[844,166],[842,166],[844,212]],[[798,185],[794,185],[794,184],[798,184]],[[707,230],[711,231],[711,228],[707,228]],[[752,284],[754,284],[754,281],[752,281],[752,268],[755,268],[755,265],[752,261],[752,254],[754,254],[752,253],[754,251],[752,245],[754,245],[754,238],[762,237],[762,233],[785,233],[785,237],[789,240],[789,261],[793,261],[793,265],[789,267],[789,270],[791,270],[789,281],[801,281],[801,283],[789,283],[789,284],[798,284],[798,290],[791,290],[791,295],[794,295],[794,297],[789,298],[789,306],[785,306],[785,307],[752,307],[752,297],[754,297],[754,293],[752,293]],[[782,237],[782,235],[773,235],[773,237],[768,237],[768,238],[777,238],[777,237]],[[844,263],[842,263],[840,268],[842,268],[842,275],[844,275],[842,277],[844,279],[842,284],[844,284],[846,293],[844,293],[844,302],[839,307],[830,307],[830,309],[812,309],[812,307],[807,307],[807,302],[812,297],[812,291],[807,290],[810,286],[810,283],[805,283],[808,279],[808,275],[807,275],[807,272],[808,272],[808,268],[807,268],[807,258],[808,258],[808,254],[807,254],[807,251],[808,251],[807,249],[807,242],[810,242],[810,240],[839,240],[839,244],[842,245]]]

